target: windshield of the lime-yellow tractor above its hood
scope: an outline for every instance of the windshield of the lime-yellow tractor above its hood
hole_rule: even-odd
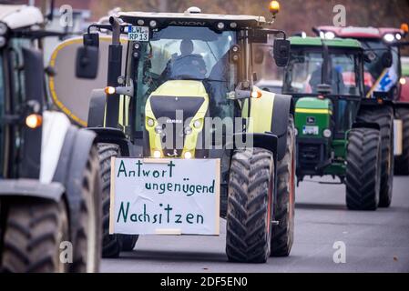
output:
[[[218,115],[230,115],[226,95],[237,85],[237,67],[230,63],[236,33],[217,33],[208,27],[168,26],[141,43],[132,68],[137,87],[137,130],[143,128],[143,106],[159,85],[169,80],[197,80],[206,88]],[[130,44],[134,46],[134,44]],[[132,47],[131,46],[131,47]]]

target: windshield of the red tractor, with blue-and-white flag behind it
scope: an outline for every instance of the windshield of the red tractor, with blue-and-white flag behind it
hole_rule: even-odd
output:
[[[386,45],[381,40],[360,40],[366,52],[370,52],[373,59],[365,62],[365,91],[373,89],[378,92],[389,92],[399,79],[398,48]],[[382,55],[391,50],[393,64],[390,68],[383,67]]]

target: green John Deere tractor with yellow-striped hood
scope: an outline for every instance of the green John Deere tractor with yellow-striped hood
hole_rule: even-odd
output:
[[[282,87],[296,101],[298,182],[337,176],[355,210],[389,206],[393,184],[394,112],[383,99],[365,98],[365,61],[357,40],[294,36]],[[373,111],[385,118],[373,121]]]

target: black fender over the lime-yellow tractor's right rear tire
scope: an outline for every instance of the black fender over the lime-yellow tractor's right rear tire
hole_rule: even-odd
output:
[[[278,138],[277,158],[279,161],[285,156],[287,147],[289,115],[294,115],[294,103],[291,95],[276,94],[272,107],[271,134]]]

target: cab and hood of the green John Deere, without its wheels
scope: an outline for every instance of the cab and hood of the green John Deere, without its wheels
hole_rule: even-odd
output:
[[[345,135],[363,97],[363,50],[359,42],[291,37],[282,92],[296,100],[300,177],[334,170],[341,173]]]

